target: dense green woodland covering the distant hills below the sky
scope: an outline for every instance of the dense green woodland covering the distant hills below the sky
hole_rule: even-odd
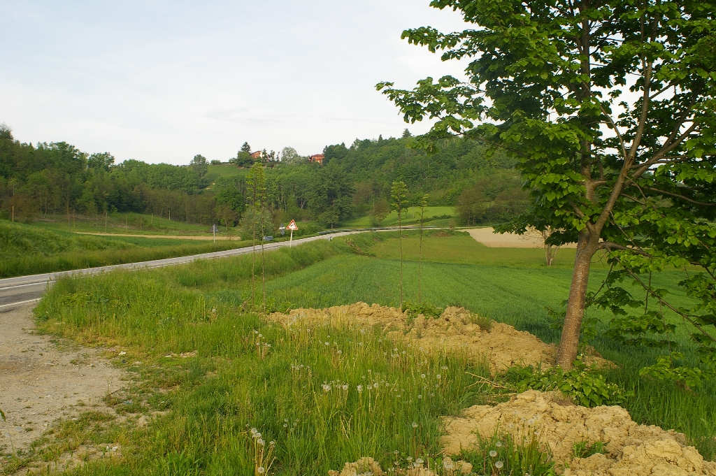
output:
[[[513,163],[488,156],[475,142],[450,140],[427,156],[409,147],[412,138],[356,140],[329,145],[323,165],[309,163],[290,147],[283,157],[270,153],[266,167],[269,208],[274,221],[291,218],[333,226],[372,214],[378,224],[390,209],[394,180],[408,187],[410,203],[429,194],[429,205],[453,205],[464,224],[495,223],[522,210]],[[244,144],[231,160],[236,173],[208,183],[208,163],[197,155],[190,165],[115,164],[110,152],[89,154],[67,142],[32,145],[15,140],[0,125],[0,217],[32,221],[74,213],[153,213],[186,223],[238,223],[246,210],[246,176],[251,160]],[[215,162],[213,162],[215,163]]]

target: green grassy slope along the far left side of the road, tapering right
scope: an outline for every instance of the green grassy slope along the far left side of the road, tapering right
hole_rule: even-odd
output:
[[[0,220],[0,278],[135,263],[247,246],[242,241],[78,235]]]

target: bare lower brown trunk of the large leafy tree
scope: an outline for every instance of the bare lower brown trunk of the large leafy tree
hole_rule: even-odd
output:
[[[592,236],[586,228],[579,232],[572,283],[569,288],[569,299],[567,300],[567,311],[566,316],[564,316],[564,327],[562,328],[562,336],[557,352],[557,365],[563,369],[571,369],[572,362],[577,356],[581,321],[584,317],[586,286],[589,283],[589,268],[591,268],[591,258],[596,253],[598,246],[598,235],[596,237]]]

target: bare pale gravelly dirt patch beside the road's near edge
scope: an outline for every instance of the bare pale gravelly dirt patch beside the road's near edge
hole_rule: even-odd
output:
[[[52,422],[87,410],[114,412],[102,399],[116,392],[122,371],[96,351],[62,349],[34,334],[34,303],[0,311],[0,452],[24,450]]]

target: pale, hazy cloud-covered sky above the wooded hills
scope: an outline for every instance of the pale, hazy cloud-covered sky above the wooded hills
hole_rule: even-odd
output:
[[[419,134],[375,84],[463,77],[400,39],[465,29],[429,3],[0,0],[0,122],[21,142],[173,164]]]

